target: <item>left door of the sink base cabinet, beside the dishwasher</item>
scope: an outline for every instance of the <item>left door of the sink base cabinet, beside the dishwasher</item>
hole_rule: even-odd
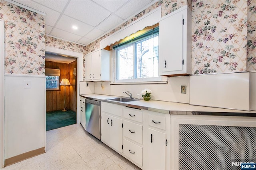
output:
[[[110,145],[110,118],[109,115],[101,113],[101,141],[107,145]]]

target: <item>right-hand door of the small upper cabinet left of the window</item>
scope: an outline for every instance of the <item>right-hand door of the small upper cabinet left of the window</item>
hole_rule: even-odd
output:
[[[100,80],[100,50],[92,53],[92,80]]]

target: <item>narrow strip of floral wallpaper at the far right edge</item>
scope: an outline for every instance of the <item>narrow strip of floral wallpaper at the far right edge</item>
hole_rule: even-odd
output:
[[[247,70],[256,70],[256,0],[247,3]]]

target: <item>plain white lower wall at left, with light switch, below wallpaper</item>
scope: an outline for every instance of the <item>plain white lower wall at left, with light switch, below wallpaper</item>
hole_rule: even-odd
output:
[[[5,159],[45,147],[45,76],[5,74],[4,86]]]

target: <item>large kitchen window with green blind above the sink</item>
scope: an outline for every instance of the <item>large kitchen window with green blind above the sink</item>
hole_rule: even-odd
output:
[[[153,27],[153,28],[152,28]],[[160,81],[159,26],[133,34],[113,46],[114,83]],[[139,34],[139,33],[137,33]]]

